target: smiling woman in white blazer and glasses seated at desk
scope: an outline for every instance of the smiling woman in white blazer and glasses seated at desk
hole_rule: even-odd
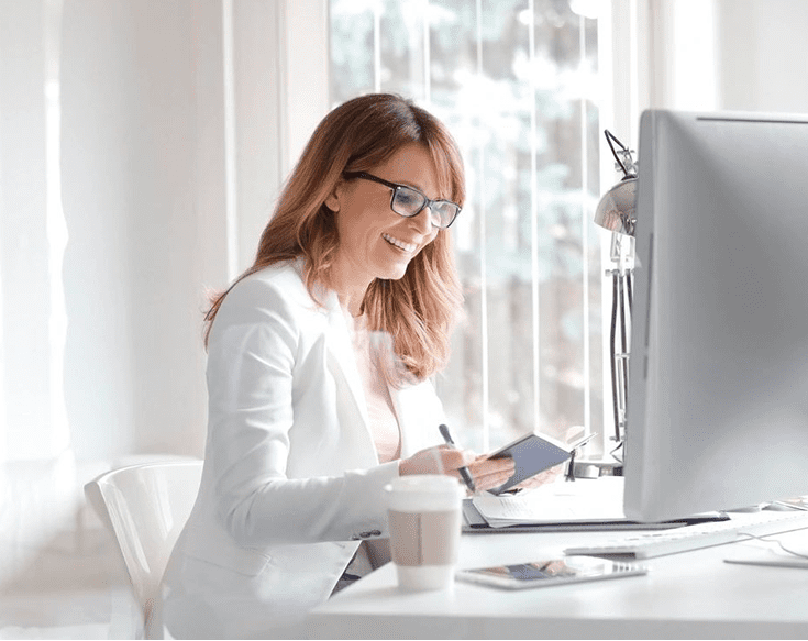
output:
[[[436,444],[429,377],[462,300],[447,228],[463,200],[455,143],[411,102],[364,96],[320,123],[254,265],[207,317],[208,440],[163,583],[171,636],[298,634],[367,561],[359,543],[387,537],[391,478],[468,466],[487,489],[512,474]]]

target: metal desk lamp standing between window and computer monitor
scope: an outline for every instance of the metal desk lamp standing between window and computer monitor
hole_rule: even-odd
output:
[[[600,199],[595,210],[595,223],[611,232],[610,258],[613,263],[606,276],[611,276],[611,331],[609,346],[611,355],[611,395],[615,416],[615,434],[611,436],[617,446],[611,454],[622,463],[616,453],[622,447],[626,435],[626,407],[629,394],[629,341],[631,331],[632,285],[631,274],[634,263],[634,225],[637,223],[637,164],[631,151],[609,130],[604,131],[611,153],[617,161],[616,169],[622,172],[621,180]],[[615,150],[615,144],[620,147]],[[627,303],[628,300],[628,303]],[[618,350],[618,317],[620,318],[620,349]],[[617,471],[616,471],[617,473]]]

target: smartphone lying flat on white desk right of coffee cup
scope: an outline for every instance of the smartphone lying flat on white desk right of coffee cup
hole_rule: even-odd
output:
[[[461,581],[482,583],[505,589],[524,589],[601,578],[637,576],[646,573],[647,567],[642,564],[578,555],[517,563],[514,565],[460,570],[456,576]]]

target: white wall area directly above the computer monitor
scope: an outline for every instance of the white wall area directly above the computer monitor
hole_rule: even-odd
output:
[[[626,13],[624,2],[613,4]],[[640,109],[808,112],[805,0],[628,4],[642,32]]]

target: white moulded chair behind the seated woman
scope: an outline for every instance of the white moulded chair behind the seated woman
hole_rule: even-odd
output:
[[[201,461],[161,461],[119,467],[85,485],[85,496],[118,542],[146,639],[164,638],[155,608],[159,582],[201,475]]]

